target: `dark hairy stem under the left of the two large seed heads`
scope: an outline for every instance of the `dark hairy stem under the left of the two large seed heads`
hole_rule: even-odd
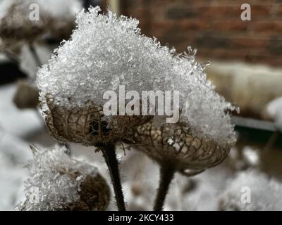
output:
[[[125,211],[125,203],[123,198],[123,190],[121,188],[121,178],[118,169],[118,160],[116,159],[115,146],[112,143],[105,143],[100,146],[103,156],[106,160],[106,165],[109,167],[111,181],[113,182],[114,192],[116,195],[116,205],[118,211]]]

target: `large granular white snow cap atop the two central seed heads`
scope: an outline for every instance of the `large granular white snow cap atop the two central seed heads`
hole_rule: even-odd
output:
[[[56,105],[80,108],[90,101],[103,105],[104,92],[118,94],[119,85],[140,96],[142,91],[179,91],[180,121],[193,134],[222,145],[235,141],[226,113],[234,108],[216,94],[204,67],[195,62],[195,51],[178,54],[142,35],[138,20],[100,11],[96,7],[79,13],[71,39],[37,72],[44,113],[49,111],[47,95],[56,98]]]

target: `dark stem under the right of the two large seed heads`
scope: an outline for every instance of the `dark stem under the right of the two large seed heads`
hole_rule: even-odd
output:
[[[157,198],[154,201],[154,211],[161,211],[164,207],[164,200],[166,200],[166,194],[168,193],[169,185],[173,179],[176,170],[170,165],[161,165],[160,179]]]

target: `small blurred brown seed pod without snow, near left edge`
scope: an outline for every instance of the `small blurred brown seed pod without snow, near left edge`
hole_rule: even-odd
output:
[[[20,80],[17,84],[13,103],[20,108],[37,108],[39,105],[39,91],[36,86],[27,81]]]

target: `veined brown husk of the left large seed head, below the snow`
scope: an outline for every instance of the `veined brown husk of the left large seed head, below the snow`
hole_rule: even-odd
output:
[[[137,126],[152,119],[147,115],[116,115],[104,120],[102,107],[87,102],[83,107],[66,108],[55,103],[47,96],[49,110],[46,125],[54,139],[66,143],[81,143],[85,146],[99,146],[102,143],[124,141],[135,143]]]

